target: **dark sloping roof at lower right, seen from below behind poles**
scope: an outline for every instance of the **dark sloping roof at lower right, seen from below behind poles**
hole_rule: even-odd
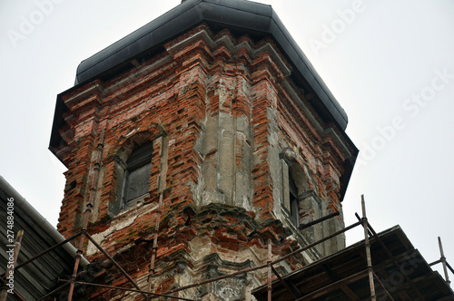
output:
[[[399,226],[379,233],[379,238],[397,260],[398,267],[378,239],[372,238],[370,254],[373,269],[395,301],[420,300],[419,294],[427,301],[454,300],[450,287],[413,248]],[[272,300],[370,300],[365,253],[364,241],[361,241],[286,275],[283,279],[287,287],[279,280],[273,281]],[[402,273],[409,277],[411,283]],[[377,281],[375,290],[377,300],[390,300]],[[267,286],[254,289],[252,295],[259,301],[266,301]]]

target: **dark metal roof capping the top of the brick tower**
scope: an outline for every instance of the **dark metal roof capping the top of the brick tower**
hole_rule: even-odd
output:
[[[308,58],[291,37],[270,5],[244,0],[188,0],[120,41],[94,54],[77,68],[75,83],[91,81],[117,69],[144,53],[163,50],[163,44],[201,23],[208,23],[252,36],[271,35],[298,74],[297,82],[309,86],[321,103],[313,105],[321,115],[347,127],[347,114],[336,101]]]

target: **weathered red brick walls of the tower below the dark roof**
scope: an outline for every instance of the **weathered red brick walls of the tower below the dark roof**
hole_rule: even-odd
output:
[[[228,31],[212,34],[206,25],[200,25],[165,48],[166,52],[149,61],[133,63],[126,73],[86,83],[63,95],[69,112],[61,133],[70,151],[57,151],[68,167],[58,230],[68,237],[81,227],[81,213],[92,189],[94,212],[89,232],[97,235],[109,254],[116,254],[134,279],[143,279],[151,257],[157,202],[163,193],[158,274],[172,269],[175,262],[186,258],[184,254],[192,254],[189,242],[197,237],[209,238],[212,253],[231,259],[234,256],[229,254],[246,252],[252,246],[266,250],[263,241],[267,238],[275,244],[275,256],[295,248],[295,242],[287,238],[289,231],[275,219],[279,216],[274,202],[281,199],[275,189],[280,171],[271,168],[277,158],[274,153],[293,150],[295,160],[311,172],[309,184],[326,200],[327,209],[340,210],[341,166],[349,154],[336,140],[338,130],[325,124],[305,92],[291,83],[291,66],[269,39],[236,39]],[[201,137],[212,131],[205,121],[220,114],[232,115],[233,121],[242,118],[252,134],[248,137],[240,132],[232,138],[232,166],[211,159],[222,158],[224,150],[202,151],[199,147],[207,143]],[[93,187],[95,148],[102,131],[101,168]],[[219,141],[214,145],[223,145],[225,137],[215,138]],[[147,141],[153,141],[150,195],[143,204],[116,212],[113,204],[118,202],[119,180],[115,160],[127,158]],[[251,167],[243,163],[248,153]],[[218,164],[240,175],[251,174],[253,209],[235,207],[235,192],[228,195],[219,189],[226,185],[222,181],[217,187],[227,200],[212,207],[203,205],[196,191],[204,185],[204,170],[219,169]],[[192,221],[188,224],[189,215]],[[94,261],[103,258],[100,253],[89,255]],[[254,260],[259,263],[262,259]],[[114,273],[112,268],[104,268]],[[124,282],[114,277],[117,274],[101,274],[111,284]],[[158,290],[165,291],[175,281],[163,281]],[[104,294],[99,292],[104,291],[98,291],[99,296]]]

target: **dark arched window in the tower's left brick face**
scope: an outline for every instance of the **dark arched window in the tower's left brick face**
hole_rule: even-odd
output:
[[[133,150],[128,160],[123,177],[123,209],[135,205],[137,198],[150,188],[152,170],[153,143],[143,144]]]

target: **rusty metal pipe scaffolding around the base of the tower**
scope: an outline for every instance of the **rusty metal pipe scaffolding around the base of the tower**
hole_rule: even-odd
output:
[[[345,283],[346,281],[349,281],[351,279],[358,279],[359,277],[368,277],[369,288],[370,288],[370,300],[375,301],[377,299],[376,286],[377,287],[380,286],[380,288],[389,297],[389,300],[394,300],[393,297],[390,294],[390,291],[380,281],[380,277],[378,277],[377,274],[374,272],[374,267],[372,265],[372,257],[371,257],[371,254],[370,254],[370,238],[373,238],[373,239],[376,239],[379,242],[381,248],[383,248],[385,250],[387,256],[390,258],[390,260],[392,261],[393,265],[398,270],[400,270],[401,275],[406,278],[406,281],[410,284],[410,286],[412,286],[413,290],[415,292],[417,292],[417,294],[419,295],[420,300],[425,300],[423,294],[419,290],[419,287],[416,286],[411,281],[411,279],[409,278],[407,273],[405,273],[403,271],[403,267],[402,267],[402,265],[399,264],[397,258],[391,254],[390,249],[381,240],[380,236],[377,234],[377,232],[375,232],[374,228],[372,228],[370,226],[370,222],[368,221],[368,218],[366,216],[366,206],[365,206],[365,200],[364,200],[363,196],[361,196],[362,218],[360,218],[360,216],[358,214],[356,214],[356,217],[358,218],[357,222],[353,223],[352,225],[350,225],[348,227],[342,228],[341,230],[336,231],[336,232],[332,233],[331,235],[326,236],[325,238],[321,238],[321,239],[319,239],[319,240],[317,240],[317,241],[315,241],[315,242],[313,242],[313,243],[311,243],[311,244],[309,244],[307,246],[298,248],[298,249],[292,251],[291,253],[289,253],[289,254],[287,254],[285,256],[276,258],[274,260],[272,260],[272,254],[271,254],[271,248],[272,248],[271,239],[268,239],[268,243],[267,243],[267,245],[268,245],[267,246],[268,247],[268,259],[267,259],[267,262],[265,264],[262,264],[262,265],[256,266],[256,267],[244,268],[242,270],[239,270],[239,271],[227,274],[227,275],[223,275],[223,276],[220,276],[220,277],[212,277],[210,279],[198,281],[198,282],[193,283],[192,285],[181,286],[181,287],[169,290],[167,292],[163,292],[162,294],[154,293],[153,292],[153,274],[154,274],[154,264],[155,264],[156,253],[157,253],[157,242],[158,242],[157,241],[157,238],[158,238],[157,234],[158,234],[158,231],[159,231],[159,220],[161,219],[161,215],[162,215],[162,212],[161,212],[162,211],[162,202],[163,202],[162,198],[163,198],[163,195],[161,194],[160,203],[159,203],[159,209],[157,211],[158,218],[157,218],[157,221],[156,221],[156,228],[155,228],[155,233],[154,233],[154,236],[153,236],[152,259],[151,259],[151,263],[150,263],[150,269],[149,269],[149,272],[148,272],[148,284],[147,284],[147,289],[146,290],[141,289],[137,285],[137,283],[124,271],[123,267],[121,267],[116,262],[116,260],[114,260],[114,258],[111,257],[104,250],[104,248],[102,248],[98,243],[96,243],[94,238],[92,238],[92,236],[87,232],[86,226],[88,225],[88,220],[89,220],[89,216],[90,216],[90,213],[91,213],[91,203],[88,203],[88,205],[87,205],[87,207],[86,207],[86,209],[84,211],[84,228],[82,228],[81,231],[79,231],[77,234],[74,234],[70,238],[64,239],[62,242],[54,245],[53,247],[47,248],[43,252],[35,255],[35,257],[31,257],[28,260],[26,260],[25,262],[22,262],[22,263],[16,265],[15,266],[15,270],[18,270],[21,267],[24,267],[25,265],[35,261],[37,258],[42,257],[44,254],[46,254],[48,252],[51,252],[55,248],[60,248],[64,244],[66,244],[68,242],[71,242],[72,240],[74,240],[76,238],[79,238],[79,244],[78,244],[79,248],[78,248],[78,250],[76,252],[76,255],[75,255],[73,276],[71,277],[70,280],[59,279],[59,282],[62,283],[62,285],[57,287],[56,289],[54,289],[54,291],[48,293],[47,295],[42,296],[38,300],[46,300],[47,298],[50,298],[51,296],[54,296],[56,293],[59,293],[59,292],[63,291],[64,289],[66,289],[69,286],[69,293],[68,293],[67,300],[71,301],[73,299],[73,295],[74,295],[74,286],[75,285],[84,285],[84,286],[95,286],[95,287],[103,287],[103,288],[107,288],[107,289],[120,290],[120,291],[123,291],[123,292],[140,293],[143,296],[143,300],[151,300],[151,299],[156,298],[156,297],[167,297],[167,298],[169,298],[171,300],[195,301],[194,299],[185,298],[185,297],[182,297],[182,296],[175,296],[175,294],[177,294],[178,292],[181,292],[183,290],[187,290],[187,289],[193,288],[193,287],[203,286],[203,285],[210,284],[212,282],[219,281],[221,279],[228,278],[228,277],[234,277],[234,276],[238,276],[238,275],[251,273],[251,272],[259,270],[259,269],[266,269],[267,270],[267,281],[266,281],[265,286],[266,286],[266,290],[267,290],[267,300],[268,301],[272,300],[272,281],[273,280],[278,280],[279,283],[281,283],[281,285],[284,286],[287,289],[289,294],[291,294],[291,296],[292,296],[291,300],[293,300],[293,301],[311,300],[311,297],[317,296],[318,294],[320,295],[321,291],[314,291],[314,292],[311,292],[311,294],[309,294],[309,295],[299,296],[298,294],[296,294],[294,292],[294,289],[292,289],[291,286],[289,286],[289,284],[286,282],[284,277],[282,277],[281,274],[277,271],[277,269],[274,267],[274,265],[279,264],[281,261],[286,260],[286,259],[288,259],[290,257],[293,257],[293,256],[295,256],[297,254],[300,254],[301,252],[303,252],[305,250],[308,250],[310,248],[314,248],[315,246],[321,244],[322,242],[327,241],[327,240],[329,240],[331,238],[335,238],[338,235],[341,235],[342,233],[345,233],[346,231],[348,231],[348,230],[350,230],[352,228],[356,228],[358,226],[362,226],[362,228],[364,230],[364,248],[365,248],[365,254],[366,254],[365,260],[366,260],[367,268],[365,270],[363,270],[363,271],[360,271],[360,273],[350,275],[349,277],[345,277],[343,279],[340,279],[339,281],[335,281],[335,282],[331,283],[331,285],[325,286],[322,289],[329,290],[329,289],[332,289],[333,287],[341,286],[342,283]],[[312,226],[317,225],[318,223],[320,223],[320,222],[322,222],[324,220],[327,220],[329,218],[333,218],[333,217],[335,217],[337,215],[339,215],[339,213],[333,213],[333,214],[330,214],[330,215],[328,215],[326,217],[319,218],[317,220],[312,221],[309,224],[301,225],[300,229],[312,227]],[[97,248],[104,255],[104,257],[106,257],[114,265],[114,267],[123,275],[123,277],[125,277],[129,281],[129,283],[133,286],[133,288],[123,287],[123,286],[108,286],[108,285],[103,285],[103,284],[94,284],[94,283],[90,283],[90,282],[84,282],[84,281],[77,280],[77,275],[78,275],[77,272],[79,270],[80,259],[82,257],[82,254],[84,253],[82,248],[84,247],[84,239],[85,238],[88,239],[90,242],[92,242],[94,244],[94,247]],[[437,265],[439,263],[442,264],[443,271],[444,271],[445,282],[446,282],[447,286],[449,286],[450,281],[449,281],[448,270],[451,273],[453,273],[453,274],[454,274],[454,270],[449,265],[446,257],[444,256],[444,251],[443,251],[443,248],[442,248],[442,244],[441,244],[441,239],[440,238],[439,238],[439,252],[440,252],[440,259],[430,263],[429,266],[431,267],[431,266]],[[272,275],[274,275],[274,277]],[[5,281],[4,280],[5,279],[5,273],[3,275],[1,275],[0,278],[3,281]],[[353,300],[354,298],[351,298],[351,299]]]

